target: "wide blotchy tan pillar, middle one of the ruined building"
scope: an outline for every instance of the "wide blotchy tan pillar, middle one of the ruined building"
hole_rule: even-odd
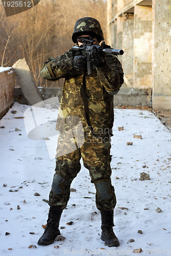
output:
[[[134,7],[134,87],[152,86],[152,8]]]

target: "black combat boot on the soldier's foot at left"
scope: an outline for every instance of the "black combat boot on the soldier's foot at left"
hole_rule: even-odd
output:
[[[59,221],[61,218],[62,210],[58,206],[50,206],[48,212],[47,226],[38,240],[38,245],[49,245],[55,241],[55,238],[59,236]]]

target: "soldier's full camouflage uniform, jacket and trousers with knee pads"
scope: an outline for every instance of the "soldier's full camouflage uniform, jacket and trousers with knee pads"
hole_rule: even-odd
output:
[[[77,26],[82,32],[85,23]],[[93,23],[89,26],[94,29]],[[81,33],[82,32],[82,33]],[[80,35],[79,34],[79,35]],[[91,33],[90,33],[91,34]],[[72,40],[75,42],[75,34]],[[96,137],[92,135],[87,124],[83,102],[83,75],[84,72],[72,68],[72,49],[57,58],[48,58],[44,68],[48,69],[47,80],[65,78],[62,89],[60,110],[56,129],[60,131],[56,155],[56,174],[50,192],[50,206],[64,209],[69,200],[70,184],[80,171],[80,159],[89,170],[91,182],[96,188],[96,206],[99,210],[113,210],[116,204],[114,187],[111,185],[111,155],[110,136],[113,126],[113,94],[117,93],[124,82],[123,69],[114,55],[106,55],[106,64],[103,67],[93,67],[93,74],[85,75],[88,98],[89,117]],[[42,72],[43,75],[43,72]],[[75,118],[81,120],[80,138],[79,129],[73,130]],[[79,125],[78,125],[79,126]],[[70,134],[71,133],[71,134]],[[77,135],[76,135],[77,134]],[[73,135],[73,136],[72,136]],[[83,143],[80,143],[83,141]],[[80,143],[80,144],[79,144]],[[71,147],[71,145],[75,147]],[[102,191],[107,189],[107,194]]]

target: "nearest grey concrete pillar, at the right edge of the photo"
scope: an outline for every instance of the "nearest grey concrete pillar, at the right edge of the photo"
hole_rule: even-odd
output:
[[[171,109],[171,2],[153,0],[153,96],[154,109]]]

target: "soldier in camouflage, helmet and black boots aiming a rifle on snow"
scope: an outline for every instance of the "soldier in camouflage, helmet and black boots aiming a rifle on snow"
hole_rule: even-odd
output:
[[[101,25],[95,18],[83,17],[77,20],[72,41],[80,46],[84,39],[93,41],[94,45],[104,40]],[[96,189],[95,202],[102,219],[101,239],[109,247],[119,246],[113,232],[116,197],[110,178],[110,137],[114,120],[113,95],[123,84],[124,73],[119,60],[112,54],[104,56],[92,50],[90,62],[93,65],[93,73],[88,75],[86,57],[81,53],[75,54],[70,49],[57,58],[48,58],[41,68],[43,78],[52,81],[65,78],[65,81],[57,122],[60,135],[55,175],[49,196],[50,210],[47,226],[38,240],[39,245],[52,244],[60,234],[59,221],[69,200],[70,184],[81,169],[82,157]],[[78,145],[78,140],[73,136],[77,148],[67,152],[66,149],[71,143],[68,131],[74,117],[81,120],[84,143]]]

